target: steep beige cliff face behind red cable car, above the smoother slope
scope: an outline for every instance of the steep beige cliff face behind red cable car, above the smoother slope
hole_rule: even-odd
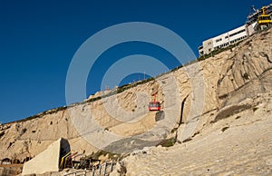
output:
[[[158,135],[166,138],[171,133],[169,117],[174,119],[172,128],[179,128],[177,135],[180,141],[185,140],[194,135],[194,132],[189,132],[187,136],[180,137],[186,125],[199,132],[208,122],[214,121],[222,109],[257,93],[271,91],[271,41],[270,29],[248,37],[231,51],[182,67],[122,93],[49,111],[29,121],[4,124],[0,127],[0,160],[16,158],[23,161],[26,157],[34,157],[60,137],[69,140],[73,151],[85,153],[98,150],[89,138],[100,141],[109,132],[118,134],[116,139],[104,140],[117,142],[117,146],[121,144],[119,136],[137,135],[139,139],[151,139]],[[171,92],[175,84],[179,93]],[[160,121],[156,121],[156,112],[148,112],[152,93],[158,94],[157,98],[165,110],[164,119]],[[171,101],[177,104],[171,104]],[[171,112],[173,109],[175,112]],[[90,113],[101,128],[88,131],[88,126],[84,126],[85,114]],[[77,125],[83,128],[79,129]],[[163,132],[146,133],[155,125]]]

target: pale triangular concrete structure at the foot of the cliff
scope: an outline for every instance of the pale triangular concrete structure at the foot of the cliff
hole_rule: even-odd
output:
[[[61,158],[67,152],[70,152],[69,142],[60,138],[49,145],[44,152],[25,162],[22,175],[59,171]]]

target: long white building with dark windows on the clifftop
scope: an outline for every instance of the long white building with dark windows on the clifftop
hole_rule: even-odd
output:
[[[229,44],[236,44],[247,36],[248,31],[246,25],[239,26],[227,33],[219,34],[218,36],[205,40],[202,45],[199,46],[199,55],[209,54],[210,52],[226,47]]]

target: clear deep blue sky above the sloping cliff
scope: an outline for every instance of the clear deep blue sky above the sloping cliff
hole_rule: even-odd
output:
[[[160,24],[179,34],[198,55],[203,40],[244,24],[251,5],[268,4],[271,1],[2,0],[0,122],[65,105],[65,78],[73,54],[105,27],[124,22]],[[156,56],[156,48],[147,48],[140,44],[137,50]],[[112,55],[123,50],[117,48]],[[106,70],[104,63],[98,65]],[[92,94],[99,87],[87,86],[86,92]]]

